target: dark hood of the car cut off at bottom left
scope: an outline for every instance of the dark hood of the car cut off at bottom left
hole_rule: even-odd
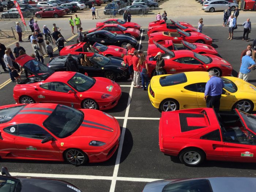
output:
[[[82,192],[69,182],[60,180],[47,180],[41,178],[19,178],[22,181],[21,192],[36,191],[36,192]]]

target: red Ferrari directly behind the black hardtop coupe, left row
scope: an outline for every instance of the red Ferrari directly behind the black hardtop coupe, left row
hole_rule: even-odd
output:
[[[91,33],[93,31],[98,31],[98,30],[106,30],[115,34],[131,35],[135,38],[139,38],[140,36],[140,30],[134,29],[134,28],[126,28],[119,24],[105,24],[103,26],[96,27],[89,30],[88,33]]]

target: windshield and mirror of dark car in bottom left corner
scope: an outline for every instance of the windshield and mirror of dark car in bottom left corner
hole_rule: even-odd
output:
[[[0,176],[0,191],[1,192],[20,192],[20,180],[12,177]]]

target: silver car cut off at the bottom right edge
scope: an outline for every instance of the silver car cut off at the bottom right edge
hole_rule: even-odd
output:
[[[251,192],[255,188],[252,177],[209,177],[153,181],[143,192]]]

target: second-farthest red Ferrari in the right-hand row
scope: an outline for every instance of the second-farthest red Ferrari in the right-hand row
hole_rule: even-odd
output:
[[[176,32],[176,29],[181,29],[187,32],[197,31],[195,27],[183,26],[180,23],[171,22],[170,20],[167,20],[166,23],[163,23],[161,25],[148,27],[147,35],[158,32],[158,31]]]

